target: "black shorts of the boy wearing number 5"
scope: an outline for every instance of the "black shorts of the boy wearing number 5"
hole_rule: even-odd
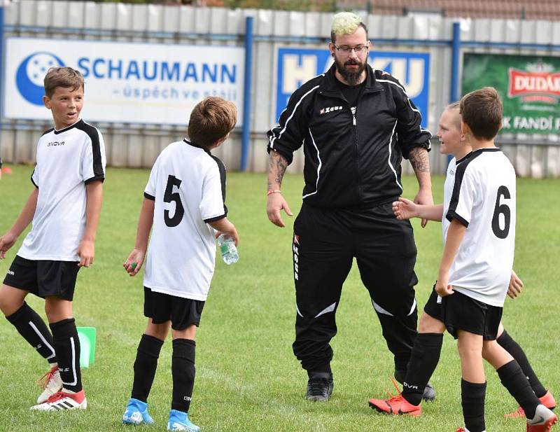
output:
[[[144,316],[154,324],[171,321],[174,330],[185,330],[188,326],[200,324],[204,301],[157,293],[144,286]]]

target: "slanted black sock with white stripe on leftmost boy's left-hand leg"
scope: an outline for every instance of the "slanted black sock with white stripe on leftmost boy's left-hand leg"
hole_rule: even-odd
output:
[[[6,319],[46,361],[49,363],[57,362],[55,344],[52,342],[52,335],[45,321],[26,302],[23,302],[22,307],[13,314],[6,316]]]

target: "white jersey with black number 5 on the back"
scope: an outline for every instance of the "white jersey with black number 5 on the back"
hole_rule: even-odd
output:
[[[208,222],[228,214],[223,163],[187,139],[169,144],[153,165],[144,197],[155,200],[144,286],[206,300],[216,257]]]

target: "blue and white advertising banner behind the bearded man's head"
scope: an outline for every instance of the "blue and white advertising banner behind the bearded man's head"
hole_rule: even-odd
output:
[[[305,81],[328,71],[332,62],[329,50],[279,48],[276,120],[286,108],[294,90]],[[430,54],[370,50],[368,62],[374,69],[386,71],[400,81],[422,114],[422,127],[427,127]]]

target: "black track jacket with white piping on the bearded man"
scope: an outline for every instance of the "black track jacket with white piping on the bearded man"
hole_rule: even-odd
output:
[[[402,193],[400,162],[411,148],[430,150],[420,111],[393,76],[367,65],[356,115],[337,83],[335,64],[293,92],[279,125],[267,132],[268,151],[288,163],[303,144],[303,202],[363,208]]]

